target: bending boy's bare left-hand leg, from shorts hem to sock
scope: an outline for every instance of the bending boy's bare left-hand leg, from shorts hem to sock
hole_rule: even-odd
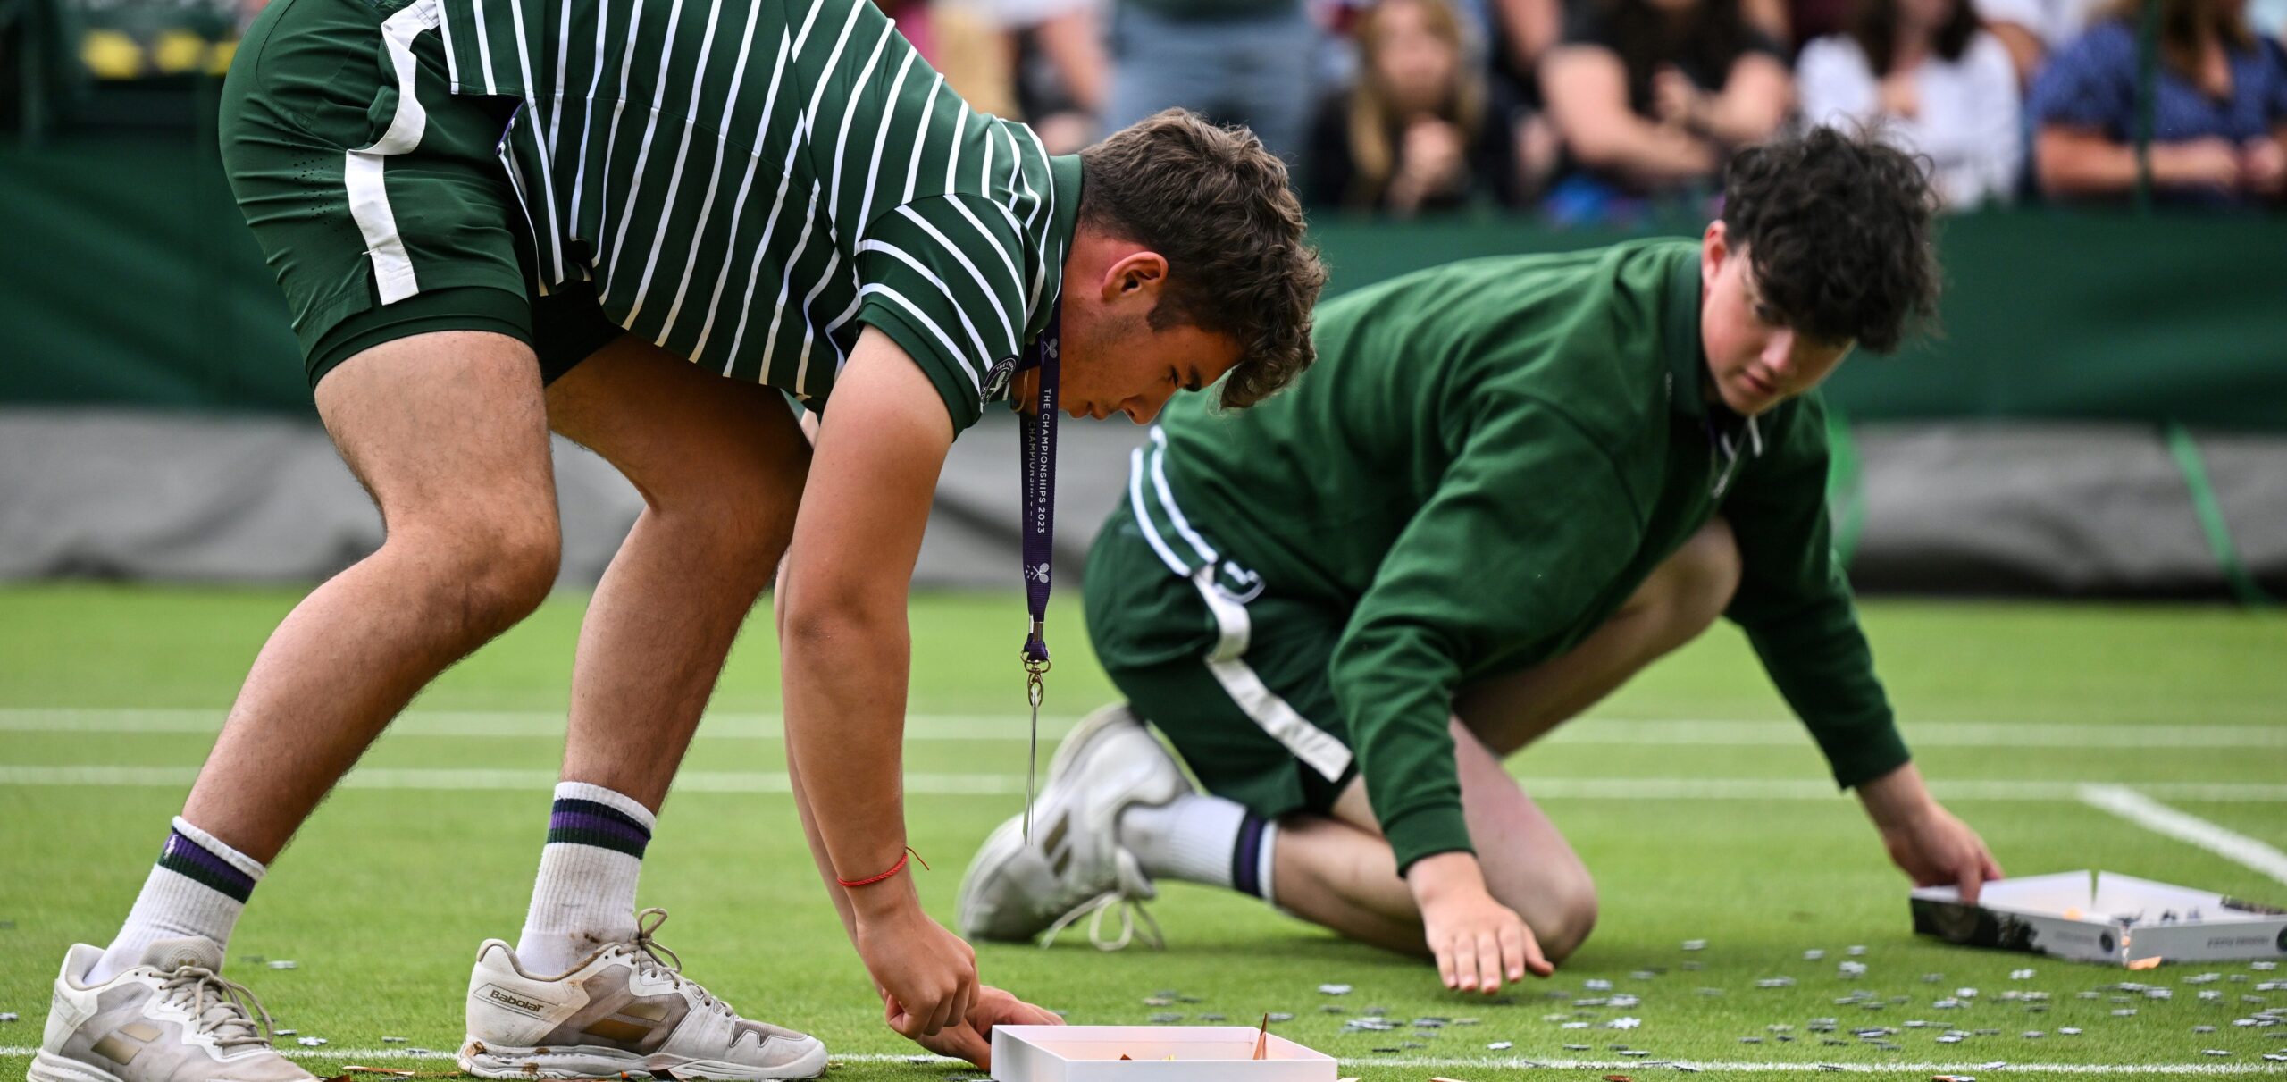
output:
[[[270,634],[183,807],[261,862],[414,693],[556,581],[531,348],[480,332],[375,345],[318,384],[318,414],[387,535]]]

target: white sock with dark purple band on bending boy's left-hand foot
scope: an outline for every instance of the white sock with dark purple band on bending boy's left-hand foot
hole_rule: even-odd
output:
[[[263,878],[263,862],[245,856],[215,835],[190,826],[176,817],[174,830],[144,878],[135,908],[128,910],[119,938],[103,949],[103,958],[82,977],[87,984],[103,984],[121,972],[142,965],[144,949],[158,940],[206,936],[217,947],[231,945],[231,929],[247,910],[254,883]]]

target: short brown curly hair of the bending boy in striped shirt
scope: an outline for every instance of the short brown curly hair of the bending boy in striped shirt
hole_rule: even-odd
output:
[[[1310,307],[1326,268],[1304,245],[1285,162],[1256,133],[1166,110],[1079,151],[1079,224],[1169,261],[1150,327],[1240,343],[1226,407],[1256,405],[1310,366]]]

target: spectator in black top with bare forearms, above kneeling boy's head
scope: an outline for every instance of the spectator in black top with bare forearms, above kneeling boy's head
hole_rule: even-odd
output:
[[[1551,210],[1589,220],[1628,197],[1713,188],[1727,151],[1768,140],[1795,92],[1738,0],[1599,0],[1548,53],[1541,94],[1585,169]]]

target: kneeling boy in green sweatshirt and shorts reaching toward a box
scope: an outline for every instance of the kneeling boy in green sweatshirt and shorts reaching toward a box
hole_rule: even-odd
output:
[[[1320,309],[1292,391],[1171,405],[1086,570],[1130,707],[1066,739],[1036,844],[986,842],[963,929],[1031,938],[1169,876],[1450,988],[1546,977],[1596,892],[1503,759],[1718,615],[1917,883],[1999,876],[1873,675],[1811,393],[1933,311],[1930,206],[1914,160],[1820,128],[1740,151],[1697,242],[1384,281]]]

